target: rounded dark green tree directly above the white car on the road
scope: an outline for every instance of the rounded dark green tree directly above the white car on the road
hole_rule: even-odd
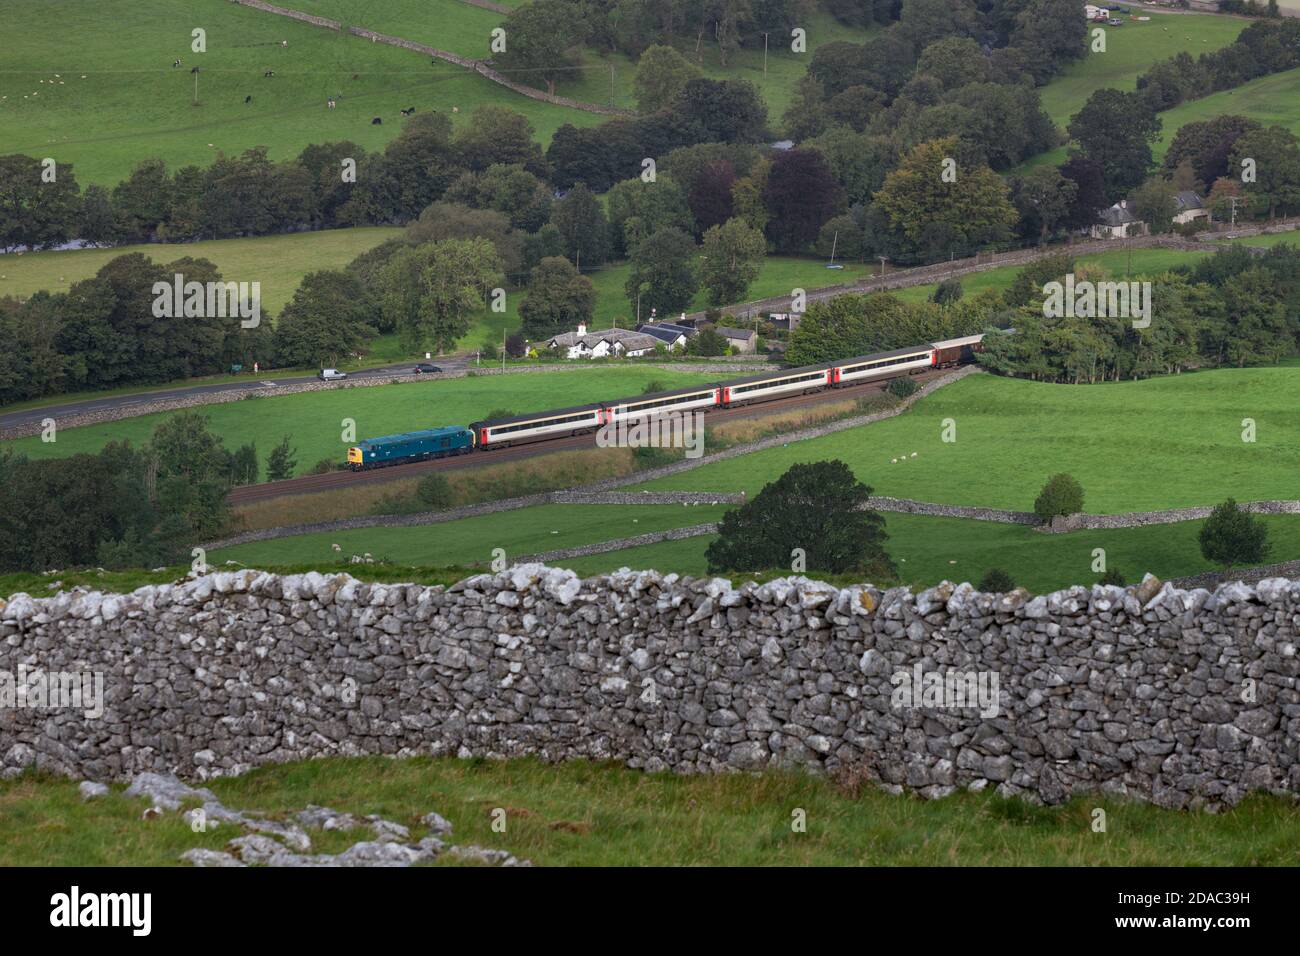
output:
[[[309,272],[276,323],[276,356],[324,368],[356,355],[376,334],[377,313],[361,282],[346,272]]]

